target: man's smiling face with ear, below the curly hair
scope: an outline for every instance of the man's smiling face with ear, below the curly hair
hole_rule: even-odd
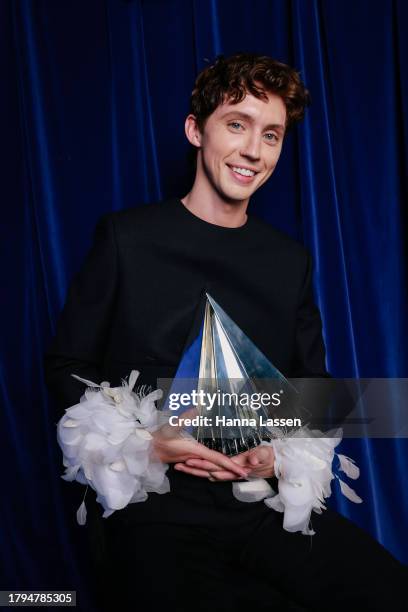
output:
[[[247,94],[238,104],[221,104],[202,132],[195,117],[187,117],[187,137],[199,147],[195,185],[201,194],[247,204],[271,176],[282,150],[286,108],[279,96],[266,95],[267,100]]]

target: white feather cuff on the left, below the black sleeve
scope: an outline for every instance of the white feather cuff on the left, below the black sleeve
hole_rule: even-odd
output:
[[[154,402],[162,391],[135,393],[138,375],[133,371],[129,383],[123,381],[116,388],[75,376],[88,388],[57,425],[66,468],[62,478],[90,485],[104,508],[104,518],[129,503],[145,501],[148,492],[170,490],[168,465],[154,457],[151,442],[151,432],[160,426]],[[84,502],[77,520],[81,525],[86,522]]]

